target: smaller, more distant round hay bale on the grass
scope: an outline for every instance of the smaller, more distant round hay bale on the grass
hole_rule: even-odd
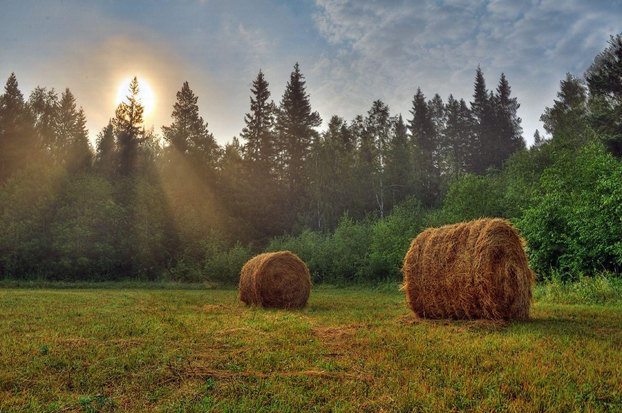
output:
[[[238,296],[246,304],[304,307],[310,291],[309,268],[290,251],[259,254],[244,264],[239,276]]]

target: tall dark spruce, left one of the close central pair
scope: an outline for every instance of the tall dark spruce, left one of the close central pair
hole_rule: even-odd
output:
[[[268,101],[269,83],[264,73],[259,70],[257,78],[253,80],[251,92],[251,111],[244,116],[246,126],[240,137],[246,141],[244,152],[251,165],[251,172],[260,172],[263,175],[271,174],[271,164],[275,160],[274,125],[276,106]]]

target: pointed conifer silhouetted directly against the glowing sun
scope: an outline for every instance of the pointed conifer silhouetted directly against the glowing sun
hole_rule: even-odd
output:
[[[119,103],[114,112],[114,129],[119,151],[119,173],[127,176],[132,174],[139,160],[141,144],[144,141],[142,114],[144,106],[138,100],[138,78],[134,76],[129,84],[127,101]]]

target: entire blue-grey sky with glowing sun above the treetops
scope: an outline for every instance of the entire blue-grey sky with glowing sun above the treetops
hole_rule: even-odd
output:
[[[377,99],[408,119],[417,87],[470,101],[480,65],[489,89],[506,74],[529,144],[565,73],[582,76],[620,32],[622,0],[0,0],[0,81],[15,72],[25,96],[70,88],[95,139],[133,75],[156,132],[187,80],[224,144],[260,68],[279,102],[299,62],[324,128]]]

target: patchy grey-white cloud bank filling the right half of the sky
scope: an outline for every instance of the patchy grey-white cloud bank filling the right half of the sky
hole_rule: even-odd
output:
[[[323,106],[351,115],[361,101],[382,98],[407,113],[417,86],[469,100],[480,64],[489,88],[500,72],[508,76],[528,141],[564,73],[580,75],[622,28],[622,7],[610,2],[317,0],[317,7],[318,32],[340,49],[315,67]]]

